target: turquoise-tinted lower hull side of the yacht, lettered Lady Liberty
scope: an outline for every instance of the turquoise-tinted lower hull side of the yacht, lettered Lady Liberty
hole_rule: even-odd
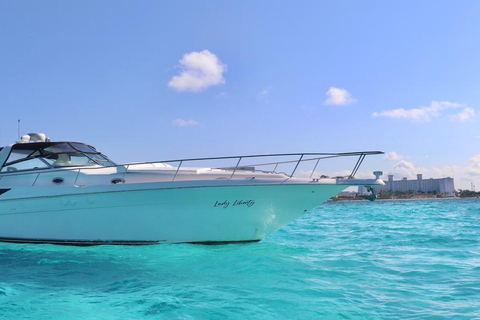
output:
[[[0,201],[0,241],[77,245],[259,241],[346,187],[125,185],[115,191],[69,187],[61,194],[45,188],[35,197],[26,194],[28,187],[18,187]]]

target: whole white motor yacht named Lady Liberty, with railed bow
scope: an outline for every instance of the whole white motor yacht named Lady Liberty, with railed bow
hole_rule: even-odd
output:
[[[0,241],[64,245],[260,241],[350,186],[380,151],[116,164],[94,147],[28,134],[0,149]],[[321,174],[352,159],[347,176]],[[350,171],[349,171],[350,172]]]

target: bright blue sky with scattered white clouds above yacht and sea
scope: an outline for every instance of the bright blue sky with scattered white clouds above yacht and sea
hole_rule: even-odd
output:
[[[22,134],[117,162],[382,150],[361,175],[451,176],[478,191],[479,12],[479,1],[0,0],[0,144],[21,119]]]

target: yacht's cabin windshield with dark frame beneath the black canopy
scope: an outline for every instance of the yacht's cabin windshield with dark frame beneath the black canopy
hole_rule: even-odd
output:
[[[15,145],[1,172],[80,166],[115,166],[105,155],[81,143]]]

